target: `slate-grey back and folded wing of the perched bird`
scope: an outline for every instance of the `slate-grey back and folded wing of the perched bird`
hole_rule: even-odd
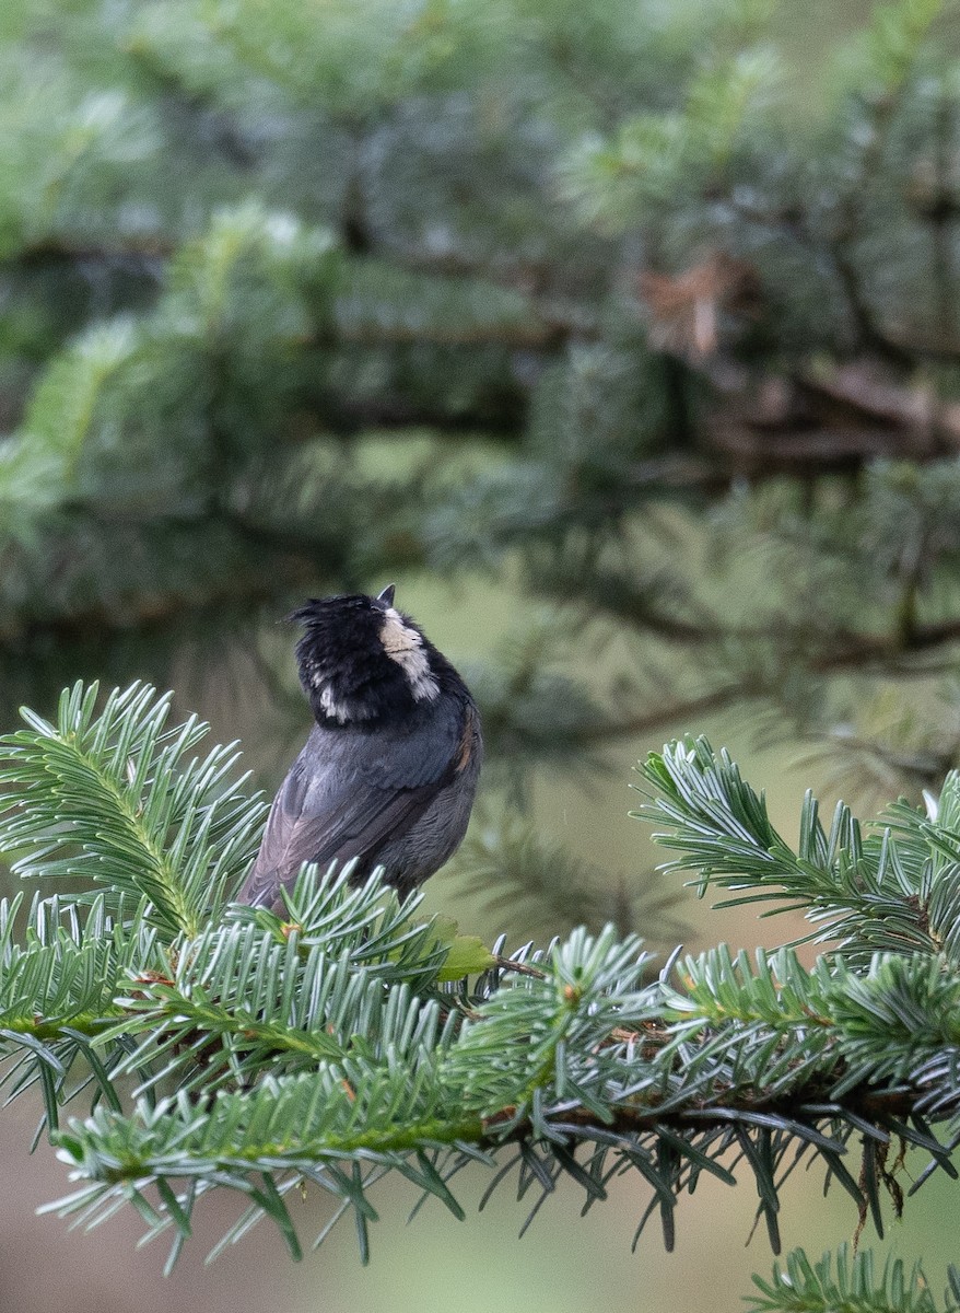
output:
[[[375,859],[464,768],[472,734],[470,709],[460,725],[397,735],[313,730],[274,798],[240,901],[273,905],[304,861]]]

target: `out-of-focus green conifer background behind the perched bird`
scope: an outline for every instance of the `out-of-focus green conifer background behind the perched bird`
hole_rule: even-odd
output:
[[[5,0],[0,722],[144,678],[269,788],[307,726],[278,620],[397,580],[489,751],[430,902],[513,943],[703,931],[624,818],[630,763],[674,733],[753,752],[784,798],[935,788],[960,759],[957,20]],[[653,1299],[668,1260],[618,1247],[609,1306],[696,1305],[678,1264],[704,1283],[749,1230],[724,1209]],[[446,1225],[430,1271],[466,1309]],[[577,1225],[606,1253],[606,1220]],[[379,1278],[344,1246],[338,1308],[408,1306],[372,1292],[397,1236]],[[569,1246],[508,1253],[535,1306]],[[181,1305],[214,1308],[227,1266]]]

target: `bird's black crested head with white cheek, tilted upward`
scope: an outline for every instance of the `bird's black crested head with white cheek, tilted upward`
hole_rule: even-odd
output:
[[[300,683],[320,723],[361,725],[404,716],[441,692],[447,663],[409,616],[393,584],[376,597],[311,597],[290,616]]]

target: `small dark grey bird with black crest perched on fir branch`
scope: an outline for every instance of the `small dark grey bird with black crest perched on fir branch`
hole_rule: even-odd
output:
[[[240,902],[277,907],[304,861],[359,859],[401,895],[467,830],[483,738],[467,685],[409,616],[378,597],[311,599],[290,617],[316,725],[274,798]]]

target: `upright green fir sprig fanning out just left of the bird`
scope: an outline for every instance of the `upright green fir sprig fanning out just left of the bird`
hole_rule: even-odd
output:
[[[170,696],[115,689],[97,716],[98,687],[60,697],[56,725],[0,739],[0,772],[14,796],[0,814],[0,852],[21,874],[89,873],[113,897],[146,897],[167,935],[198,934],[253,853],[264,802],[227,783],[239,754],[189,754],[209,726],[165,729]]]

